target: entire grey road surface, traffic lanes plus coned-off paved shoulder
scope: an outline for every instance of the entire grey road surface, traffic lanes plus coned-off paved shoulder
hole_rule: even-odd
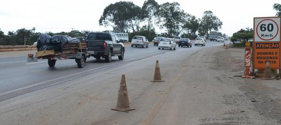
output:
[[[280,125],[277,113],[263,115],[240,89],[244,79],[228,78],[243,73],[243,56],[222,45],[127,46],[123,61],[91,57],[84,68],[0,58],[0,125]],[[164,82],[151,82],[156,60]],[[110,110],[122,74],[136,110]]]

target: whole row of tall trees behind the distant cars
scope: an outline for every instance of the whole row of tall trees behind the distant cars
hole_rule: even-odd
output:
[[[178,2],[158,4],[155,0],[146,0],[142,7],[131,1],[106,6],[99,25],[111,26],[113,32],[127,32],[129,36],[146,32],[144,36],[152,40],[156,36],[171,38],[180,34],[194,38],[197,31],[199,35],[208,35],[209,31],[221,29],[223,22],[211,11],[205,11],[202,18],[197,18],[184,12]],[[166,33],[156,34],[155,27]]]

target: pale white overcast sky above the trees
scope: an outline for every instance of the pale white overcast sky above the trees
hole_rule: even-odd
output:
[[[36,32],[74,30],[104,31],[99,18],[106,6],[120,0],[1,0],[0,29],[17,31],[36,28]],[[129,0],[142,6],[144,0]],[[158,4],[173,0],[156,0]],[[241,28],[253,27],[253,17],[275,16],[272,6],[281,0],[174,0],[191,15],[202,17],[212,11],[222,22],[220,31],[228,35]],[[157,32],[163,32],[157,28]]]

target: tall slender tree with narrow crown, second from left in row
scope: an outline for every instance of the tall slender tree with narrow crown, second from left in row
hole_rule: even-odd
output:
[[[156,18],[156,12],[158,11],[159,5],[155,0],[144,1],[142,5],[142,11],[145,13],[147,20],[147,31],[150,32],[151,27],[153,27],[153,19]]]

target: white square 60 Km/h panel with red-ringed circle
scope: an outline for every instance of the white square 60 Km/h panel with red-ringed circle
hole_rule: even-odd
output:
[[[254,18],[255,42],[280,41],[280,17]]]

